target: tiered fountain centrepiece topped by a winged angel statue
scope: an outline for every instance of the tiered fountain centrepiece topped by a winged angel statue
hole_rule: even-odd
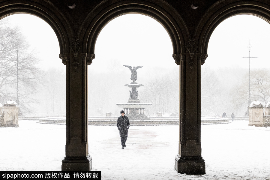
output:
[[[151,106],[151,103],[141,103],[138,99],[138,91],[137,88],[140,86],[143,86],[142,84],[138,84],[136,82],[137,80],[137,69],[143,67],[143,66],[137,66],[137,67],[131,67],[127,65],[123,65],[125,67],[128,67],[131,71],[131,80],[132,82],[130,84],[126,84],[125,86],[128,86],[131,88],[128,103],[119,103],[116,104],[118,107],[123,108],[125,111],[125,114],[128,116],[130,120],[150,120],[149,117],[145,115],[145,109],[149,106]]]

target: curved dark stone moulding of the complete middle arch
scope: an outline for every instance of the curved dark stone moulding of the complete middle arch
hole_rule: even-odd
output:
[[[185,52],[184,37],[188,37],[187,27],[179,14],[163,1],[153,3],[145,0],[125,0],[107,6],[105,4],[106,1],[99,4],[84,21],[80,30],[80,34],[83,35],[82,53],[95,54],[95,43],[104,26],[114,18],[130,13],[150,16],[160,22],[171,38],[173,54]]]

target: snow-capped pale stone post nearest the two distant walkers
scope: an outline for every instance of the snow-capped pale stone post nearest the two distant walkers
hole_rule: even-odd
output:
[[[248,108],[249,126],[263,126],[263,105],[259,101],[253,101]]]

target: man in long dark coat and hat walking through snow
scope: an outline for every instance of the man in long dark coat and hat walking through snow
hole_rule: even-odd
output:
[[[126,147],[126,141],[128,138],[128,129],[129,129],[129,119],[128,116],[125,116],[125,111],[120,111],[121,116],[117,119],[117,128],[119,129],[119,134],[122,143],[122,149]]]

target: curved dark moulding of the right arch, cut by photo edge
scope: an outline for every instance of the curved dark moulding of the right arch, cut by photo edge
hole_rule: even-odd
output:
[[[208,42],[214,29],[225,19],[241,14],[260,17],[270,23],[270,5],[262,1],[219,1],[202,16],[195,32],[198,53],[207,54]]]

